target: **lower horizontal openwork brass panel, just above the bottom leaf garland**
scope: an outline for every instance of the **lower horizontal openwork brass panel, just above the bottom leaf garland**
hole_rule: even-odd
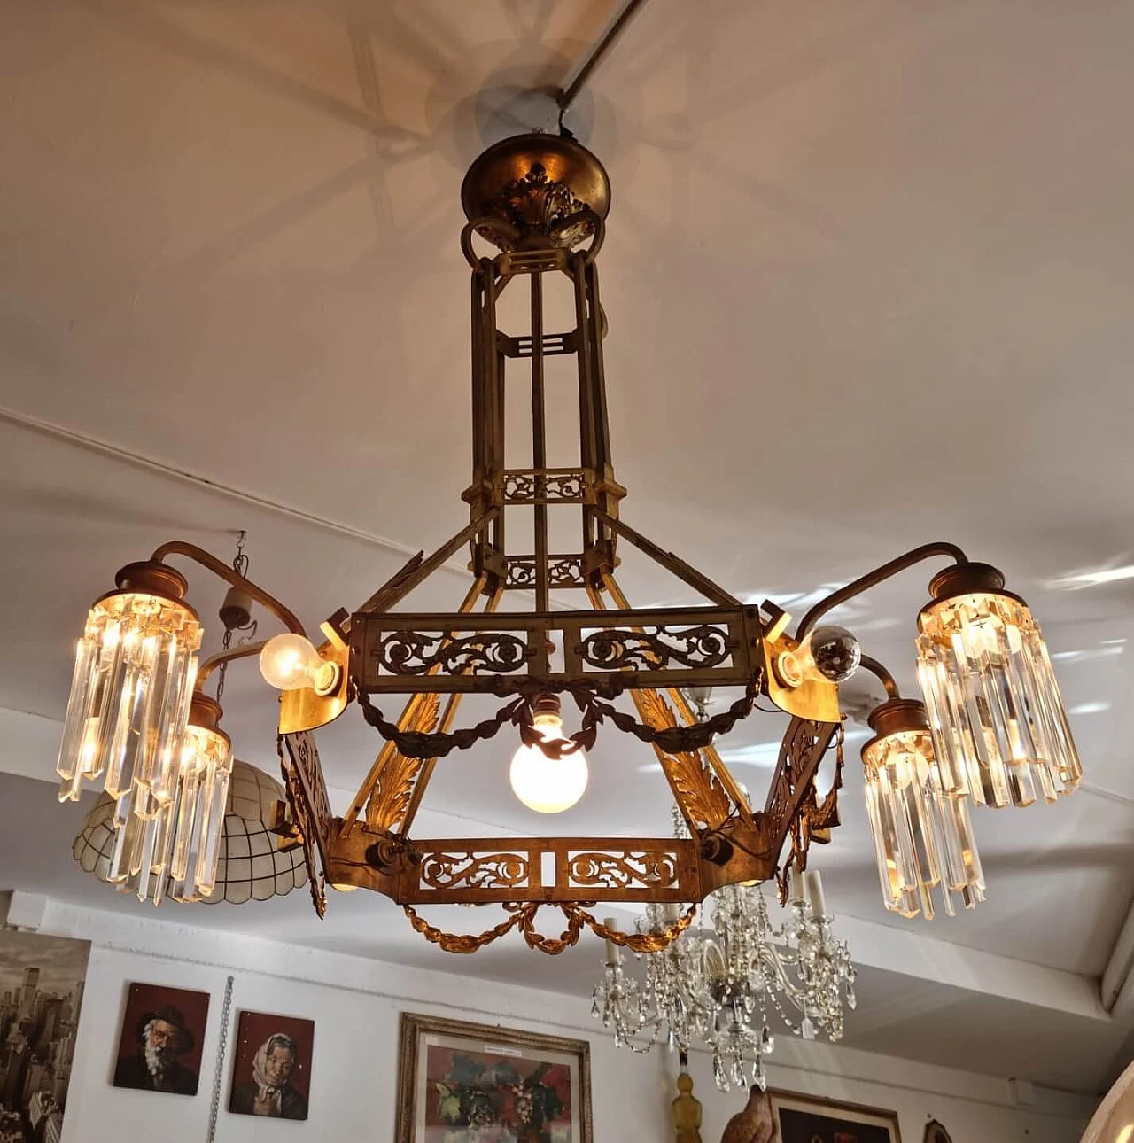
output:
[[[418,841],[402,904],[450,901],[694,901],[696,844],[674,838]]]

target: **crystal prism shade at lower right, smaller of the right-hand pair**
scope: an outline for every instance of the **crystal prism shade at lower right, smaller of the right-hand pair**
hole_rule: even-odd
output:
[[[862,761],[886,908],[933,920],[934,888],[950,917],[953,893],[967,909],[983,901],[984,874],[968,800],[942,789],[928,730],[875,738],[863,746]]]

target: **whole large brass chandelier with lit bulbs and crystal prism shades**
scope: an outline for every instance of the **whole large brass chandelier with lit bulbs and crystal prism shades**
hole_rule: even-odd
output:
[[[573,138],[520,135],[473,162],[461,198],[469,219],[461,248],[472,271],[468,526],[431,555],[415,555],[353,612],[335,612],[321,624],[318,647],[287,607],[193,544],[163,544],[122,568],[115,590],[91,608],[79,644],[58,764],[61,798],[78,798],[86,782],[98,781],[114,799],[109,878],[157,903],[213,892],[232,753],[221,706],[201,685],[218,662],[256,649],[265,679],[282,692],[278,742],[288,808],[277,823],[280,844],[302,844],[320,916],[332,884],[384,894],[450,952],[472,952],[514,928],[532,948],[556,953],[584,926],[633,951],[657,951],[716,889],[776,878],[786,894],[789,872],[805,870],[810,844],[829,840],[840,772],[822,796],[815,777],[829,749],[841,766],[838,684],[861,658],[889,693],[871,716],[876,737],[863,750],[885,904],[928,918],[937,890],[950,911],[955,893],[972,906],[984,884],[969,804],[1054,800],[1080,777],[1027,606],[995,568],[969,562],[953,544],[933,543],[834,592],[792,631],[774,604],[741,602],[636,531],[620,513],[625,489],[614,474],[602,369],[607,321],[597,256],[610,201],[606,171]],[[522,334],[501,328],[497,304],[509,289],[527,294]],[[567,291],[573,313],[566,329],[550,325],[549,296],[557,290]],[[559,357],[574,366],[569,382],[564,365],[548,368]],[[552,466],[548,455],[552,384],[569,384],[577,398],[578,450],[567,466]],[[530,466],[509,467],[505,390],[520,387],[529,397]],[[517,427],[510,421],[508,432]],[[574,515],[568,550],[551,550],[552,513]],[[530,550],[517,550],[514,527],[505,531],[524,514]],[[676,576],[700,602],[633,607],[616,580],[623,545]],[[471,583],[456,610],[396,609],[462,549],[470,551]],[[222,653],[198,671],[201,626],[173,557],[227,581],[227,606],[243,612],[255,601],[286,633]],[[852,636],[820,621],[936,559],[950,562],[918,616],[923,704],[901,698]],[[575,593],[581,606],[556,609],[559,592]],[[686,689],[703,687],[734,688],[737,697],[698,721]],[[494,696],[496,713],[458,726],[466,694]],[[400,713],[386,712],[392,695],[408,696]],[[791,720],[767,797],[753,808],[713,742],[761,697]],[[561,729],[565,700],[580,712],[570,735]],[[349,706],[382,744],[337,817],[313,732]],[[688,837],[414,834],[434,768],[453,751],[502,732],[514,736],[513,788],[526,805],[553,812],[582,794],[584,752],[608,728],[653,748]],[[479,935],[444,933],[417,913],[428,904],[488,902],[503,904],[506,917]],[[626,934],[596,919],[590,910],[598,902],[693,904],[664,910],[666,922],[650,932]],[[564,914],[558,936],[536,927],[544,905]]]

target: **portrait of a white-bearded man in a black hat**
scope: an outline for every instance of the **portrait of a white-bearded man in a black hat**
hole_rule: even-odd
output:
[[[122,1013],[114,1087],[197,1095],[209,994],[131,984]]]

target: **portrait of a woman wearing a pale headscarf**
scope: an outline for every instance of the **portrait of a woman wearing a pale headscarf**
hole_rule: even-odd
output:
[[[232,1054],[229,1111],[306,1119],[316,1025],[302,1016],[242,1012]]]

